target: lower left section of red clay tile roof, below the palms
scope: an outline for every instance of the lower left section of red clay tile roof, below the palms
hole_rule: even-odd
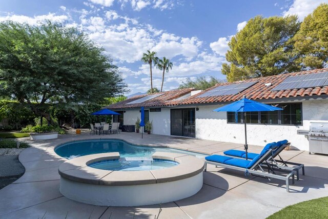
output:
[[[112,105],[109,105],[107,109],[131,109],[131,108],[140,108],[140,107],[159,107],[159,106],[166,106],[170,105],[170,102],[174,102],[175,99],[189,94],[191,91],[195,90],[194,88],[185,88],[179,90],[170,90],[166,92],[159,92],[154,94],[142,94],[133,96],[131,98],[126,99],[125,101],[121,101]],[[149,99],[148,101],[136,104],[129,104],[130,102],[136,101],[145,96],[161,94],[160,96],[156,96],[155,98]]]

